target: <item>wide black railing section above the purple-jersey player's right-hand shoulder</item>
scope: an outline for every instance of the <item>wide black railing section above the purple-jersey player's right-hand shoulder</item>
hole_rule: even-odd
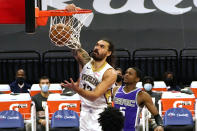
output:
[[[178,74],[178,52],[175,49],[137,49],[133,52],[133,65],[143,75],[162,80],[166,71]]]

